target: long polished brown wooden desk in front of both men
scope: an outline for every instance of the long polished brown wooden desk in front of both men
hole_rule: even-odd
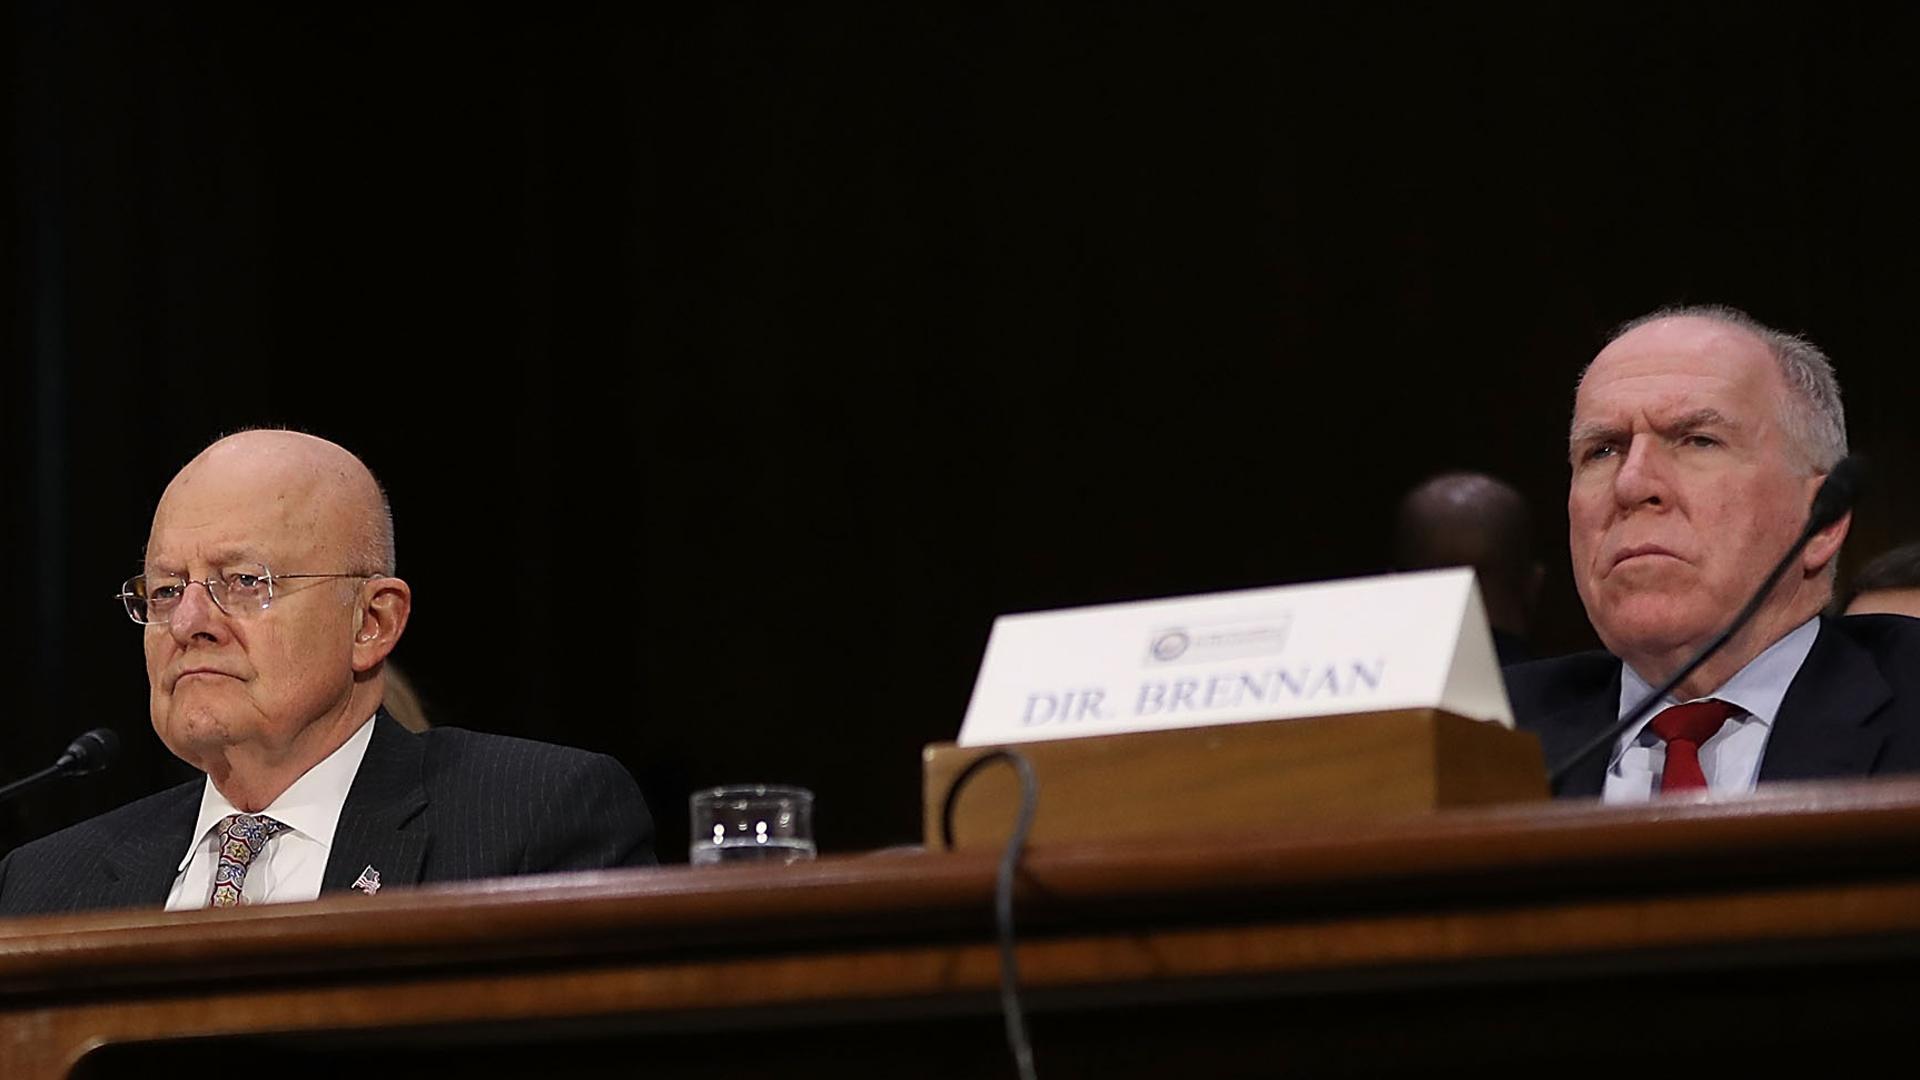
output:
[[[1248,834],[1029,855],[1043,1078],[1659,1072],[1620,1057],[1653,1007],[1715,1028],[1668,1040],[1705,1070],[1832,1067],[1920,984],[1920,782]],[[0,1076],[1010,1076],[993,878],[876,853],[15,920]]]

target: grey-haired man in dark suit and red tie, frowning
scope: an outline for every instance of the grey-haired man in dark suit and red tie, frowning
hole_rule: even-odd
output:
[[[1655,311],[1594,357],[1574,394],[1567,521],[1607,651],[1507,669],[1519,724],[1567,767],[1557,794],[1640,801],[1920,771],[1920,623],[1820,617],[1851,515],[1651,719],[1567,763],[1734,621],[1845,455],[1826,356],[1743,311]]]

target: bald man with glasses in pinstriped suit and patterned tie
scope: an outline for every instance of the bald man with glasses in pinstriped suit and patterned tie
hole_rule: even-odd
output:
[[[0,917],[232,907],[653,863],[634,778],[597,753],[380,709],[413,592],[372,473],[250,430],[194,457],[121,588],[159,740],[205,776],[27,844]]]

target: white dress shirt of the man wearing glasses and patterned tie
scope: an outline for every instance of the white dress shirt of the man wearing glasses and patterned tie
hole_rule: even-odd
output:
[[[348,788],[353,786],[353,774],[367,757],[369,742],[372,742],[372,723],[363,723],[340,749],[307,769],[273,799],[273,805],[259,811],[288,830],[269,840],[253,857],[240,888],[240,903],[288,903],[321,896],[321,876],[334,846],[334,828],[340,826],[340,807],[348,801]],[[207,778],[200,796],[194,844],[180,859],[180,872],[173,878],[173,892],[167,894],[167,911],[205,907],[213,897],[213,869],[219,865],[219,834],[213,826],[230,813],[240,811]]]

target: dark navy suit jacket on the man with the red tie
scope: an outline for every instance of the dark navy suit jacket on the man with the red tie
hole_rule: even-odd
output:
[[[1559,767],[1620,713],[1620,661],[1578,653],[1505,669],[1521,730]],[[1611,749],[1588,755],[1555,796],[1599,796]],[[1761,757],[1761,782],[1920,771],[1920,619],[1820,619]]]

